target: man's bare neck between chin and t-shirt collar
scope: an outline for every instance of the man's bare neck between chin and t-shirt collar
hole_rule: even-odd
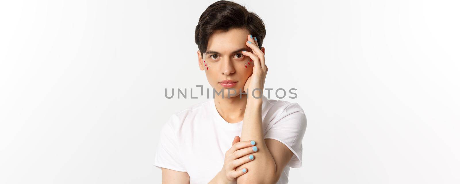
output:
[[[217,112],[229,123],[237,123],[243,120],[244,111],[246,110],[246,95],[239,95],[232,98],[217,96],[214,98]]]

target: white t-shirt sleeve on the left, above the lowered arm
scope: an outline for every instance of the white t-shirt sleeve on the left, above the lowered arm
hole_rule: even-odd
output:
[[[177,133],[173,130],[172,123],[177,121],[177,116],[173,115],[161,128],[160,142],[155,154],[154,165],[158,168],[167,168],[180,172],[187,172],[181,162],[178,148]]]

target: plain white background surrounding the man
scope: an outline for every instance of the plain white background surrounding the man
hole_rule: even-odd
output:
[[[0,183],[161,183],[159,128],[206,100],[164,88],[209,87],[213,2],[1,1]],[[266,24],[265,87],[297,88],[308,119],[290,183],[460,182],[456,1],[236,2]]]

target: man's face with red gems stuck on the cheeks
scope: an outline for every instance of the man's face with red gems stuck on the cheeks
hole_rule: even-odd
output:
[[[200,69],[205,70],[207,81],[217,93],[224,89],[225,98],[238,96],[240,89],[243,92],[247,78],[253,73],[253,62],[242,54],[243,50],[252,52],[246,46],[247,35],[247,29],[216,31],[209,37],[203,57],[198,51]]]

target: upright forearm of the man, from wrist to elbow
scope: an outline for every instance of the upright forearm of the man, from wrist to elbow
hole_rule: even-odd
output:
[[[262,128],[262,98],[248,99],[243,118],[241,140],[254,140],[258,150],[253,154],[254,161],[237,168],[247,167],[248,169],[247,174],[237,178],[237,183],[276,183],[278,180],[276,164],[265,144]]]

